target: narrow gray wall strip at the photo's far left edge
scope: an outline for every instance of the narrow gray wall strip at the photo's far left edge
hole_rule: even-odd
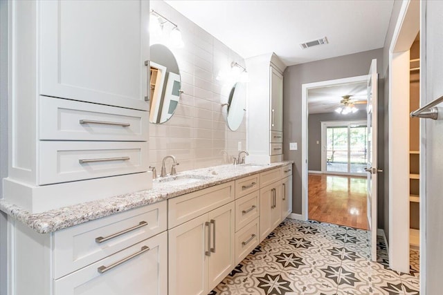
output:
[[[8,1],[0,1],[0,198],[8,175]],[[6,295],[6,214],[0,211],[0,295]]]

